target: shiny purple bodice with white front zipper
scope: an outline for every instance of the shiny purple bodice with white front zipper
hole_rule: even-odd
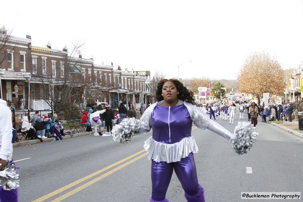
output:
[[[184,104],[165,107],[157,104],[151,113],[152,139],[174,144],[191,136],[192,121]]]

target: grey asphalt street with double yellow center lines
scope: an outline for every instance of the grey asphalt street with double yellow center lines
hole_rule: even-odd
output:
[[[217,122],[233,132],[238,118],[237,113],[234,124]],[[248,121],[247,114],[243,121]],[[303,193],[303,138],[262,123],[261,118],[256,130],[252,150],[237,155],[221,136],[193,126],[199,148],[195,163],[206,201],[252,201],[241,199],[241,192]],[[90,134],[14,148],[20,167],[19,201],[149,201],[151,163],[143,144],[150,136],[151,132],[141,134],[120,144],[111,136]],[[166,196],[186,201],[175,174]]]

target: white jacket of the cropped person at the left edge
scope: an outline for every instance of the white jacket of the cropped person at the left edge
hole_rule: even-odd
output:
[[[0,158],[5,160],[12,159],[12,112],[7,107],[6,101],[0,99]]]

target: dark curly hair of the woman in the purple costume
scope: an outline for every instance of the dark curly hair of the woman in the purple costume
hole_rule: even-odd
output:
[[[157,101],[164,100],[164,98],[162,96],[162,88],[163,88],[163,84],[166,81],[171,81],[175,84],[175,86],[177,87],[177,90],[179,92],[179,94],[177,95],[179,100],[186,101],[191,104],[195,104],[193,92],[191,92],[191,90],[188,90],[186,87],[184,87],[184,85],[177,79],[161,79],[160,80],[160,82],[157,85],[157,90],[156,90]]]

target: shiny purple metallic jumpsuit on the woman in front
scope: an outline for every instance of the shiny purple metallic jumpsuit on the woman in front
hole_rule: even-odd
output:
[[[150,123],[152,126],[152,141],[167,144],[166,151],[160,152],[160,155],[167,155],[167,159],[174,158],[177,153],[184,150],[180,147],[187,147],[188,145],[177,146],[184,138],[191,137],[192,121],[188,113],[188,109],[184,104],[176,105],[174,107],[165,107],[157,104],[151,113]],[[194,142],[195,144],[195,142]],[[170,150],[169,147],[176,147]],[[163,149],[163,147],[158,147]],[[197,152],[198,148],[196,149]],[[193,152],[184,154],[180,161],[168,162],[155,161],[151,163],[151,181],[152,181],[152,195],[151,198],[156,201],[165,199],[166,191],[171,180],[173,170],[181,182],[185,194],[195,195],[199,189],[204,192],[203,188],[198,184],[197,171],[194,161]],[[164,157],[166,158],[166,157]]]

